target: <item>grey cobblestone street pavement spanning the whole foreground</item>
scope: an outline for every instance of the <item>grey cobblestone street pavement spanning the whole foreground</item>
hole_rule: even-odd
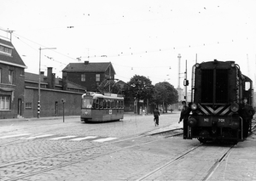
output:
[[[126,116],[123,122],[102,124],[84,124],[77,117],[67,119],[65,123],[60,122],[61,119],[12,122],[8,131],[4,128],[10,123],[4,122],[0,127],[1,136],[42,132],[118,139],[105,143],[44,138],[0,139],[0,180],[204,180],[229,145],[204,144],[193,150],[199,145],[196,139],[136,137],[145,132],[157,133],[181,127],[177,117],[178,114],[161,116],[160,127],[154,127],[152,116]],[[255,139],[253,133],[238,143],[207,180],[256,180]],[[188,156],[173,161],[188,150],[192,150]]]

